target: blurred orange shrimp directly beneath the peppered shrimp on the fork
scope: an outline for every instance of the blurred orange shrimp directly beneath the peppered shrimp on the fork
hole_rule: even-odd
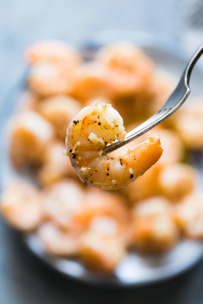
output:
[[[74,221],[87,230],[114,236],[128,244],[130,211],[121,195],[99,189],[88,189]]]

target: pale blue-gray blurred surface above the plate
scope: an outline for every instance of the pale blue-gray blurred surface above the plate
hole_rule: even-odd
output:
[[[79,43],[88,33],[101,29],[136,29],[177,40],[182,2],[0,0],[0,104],[21,75],[22,52],[33,41],[58,38]]]

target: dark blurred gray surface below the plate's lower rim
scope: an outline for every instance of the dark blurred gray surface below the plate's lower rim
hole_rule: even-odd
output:
[[[44,267],[20,238],[0,223],[2,304],[200,304],[203,263],[184,276],[151,287],[105,290],[71,282]],[[4,249],[3,249],[4,248]]]

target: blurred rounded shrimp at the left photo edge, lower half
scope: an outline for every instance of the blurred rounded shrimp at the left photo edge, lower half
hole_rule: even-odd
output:
[[[8,184],[0,196],[0,210],[13,227],[28,231],[37,228],[42,220],[42,200],[37,188],[16,180]]]

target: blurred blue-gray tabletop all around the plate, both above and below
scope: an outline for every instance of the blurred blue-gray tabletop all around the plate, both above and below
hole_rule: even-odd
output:
[[[201,27],[195,22],[196,2],[201,0],[0,0],[0,105],[23,73],[22,52],[33,41],[58,38],[79,44],[99,30],[130,29],[194,49]],[[148,288],[104,292],[77,285],[44,267],[0,220],[0,304],[200,304],[202,274],[200,263],[182,277]]]

